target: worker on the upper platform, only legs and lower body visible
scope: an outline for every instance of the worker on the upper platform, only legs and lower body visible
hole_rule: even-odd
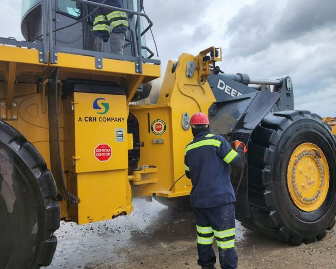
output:
[[[91,0],[95,3],[102,3],[102,0]],[[106,0],[106,5],[124,8],[122,0]],[[127,15],[122,11],[98,8],[94,12],[92,31],[95,33],[94,50],[103,51],[104,43],[110,39],[111,51],[115,54],[123,54],[125,35],[128,28]]]

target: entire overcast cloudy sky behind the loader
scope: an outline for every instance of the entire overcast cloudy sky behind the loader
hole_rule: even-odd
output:
[[[22,38],[20,5],[1,0],[1,36]],[[144,7],[154,22],[162,74],[182,52],[218,46],[225,73],[290,76],[296,109],[336,117],[335,0],[144,0]]]

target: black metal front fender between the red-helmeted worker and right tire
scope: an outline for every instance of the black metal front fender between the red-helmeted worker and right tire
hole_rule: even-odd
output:
[[[277,108],[275,104],[280,96],[281,93],[277,92],[257,91],[213,103],[209,109],[211,133],[222,135],[229,142],[242,141],[248,149],[251,133],[267,113]],[[234,169],[232,171],[232,183],[237,192],[236,213],[250,218],[247,163],[243,175],[241,173]]]

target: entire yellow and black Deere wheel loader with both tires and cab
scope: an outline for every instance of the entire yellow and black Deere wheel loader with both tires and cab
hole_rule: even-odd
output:
[[[294,244],[323,238],[335,224],[336,141],[321,117],[293,110],[291,78],[224,74],[211,47],[169,61],[157,102],[132,105],[160,61],[145,45],[142,1],[123,2],[22,0],[27,41],[0,38],[0,268],[49,265],[60,219],[130,214],[134,196],[187,197],[198,111],[248,147],[243,174],[232,171],[237,219]],[[103,6],[127,13],[124,55],[93,51],[92,11]]]

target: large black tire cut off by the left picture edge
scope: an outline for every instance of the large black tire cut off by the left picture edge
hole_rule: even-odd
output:
[[[42,156],[0,121],[0,269],[48,266],[55,252],[59,203]]]

